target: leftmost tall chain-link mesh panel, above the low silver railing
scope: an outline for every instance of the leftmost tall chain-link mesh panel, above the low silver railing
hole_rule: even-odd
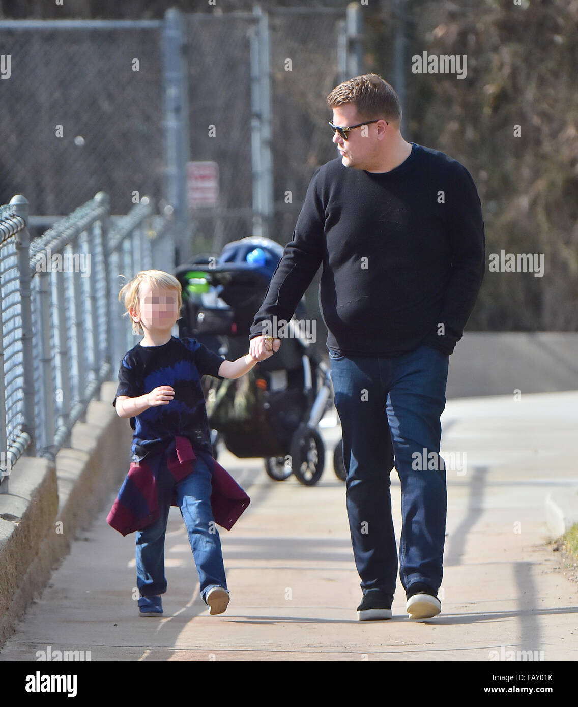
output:
[[[160,31],[55,24],[0,22],[0,203],[22,193],[31,214],[62,215],[102,189],[126,214],[135,191],[160,198]]]

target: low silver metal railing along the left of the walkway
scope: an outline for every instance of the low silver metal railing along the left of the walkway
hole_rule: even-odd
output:
[[[110,216],[99,192],[30,243],[28,201],[0,207],[0,492],[21,455],[70,446],[100,385],[132,349],[118,301],[139,270],[175,268],[173,228],[147,197]]]

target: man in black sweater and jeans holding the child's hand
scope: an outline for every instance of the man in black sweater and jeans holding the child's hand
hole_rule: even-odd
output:
[[[397,547],[389,472],[401,482],[400,580],[412,619],[441,611],[446,469],[439,446],[449,356],[485,270],[485,229],[468,170],[406,142],[393,88],[376,74],[334,88],[340,157],[316,170],[291,243],[250,329],[289,320],[320,264],[347,514],[362,579],[359,619],[391,618]],[[427,460],[426,463],[423,460]]]

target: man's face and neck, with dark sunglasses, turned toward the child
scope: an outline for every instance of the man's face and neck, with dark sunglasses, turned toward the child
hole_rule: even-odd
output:
[[[363,122],[363,118],[357,114],[357,108],[348,103],[333,108],[334,125],[347,127]],[[344,167],[353,167],[359,170],[373,169],[379,162],[379,149],[381,141],[385,136],[385,119],[378,123],[370,123],[354,128],[347,132],[347,140],[335,131],[333,142],[337,146]]]

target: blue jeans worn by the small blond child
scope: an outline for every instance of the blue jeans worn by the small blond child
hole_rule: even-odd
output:
[[[173,489],[176,489],[180,515],[187,527],[203,601],[210,588],[227,589],[221,540],[211,509],[211,477],[200,457],[195,462],[195,471],[176,483],[166,465],[160,465],[156,484],[161,515],[152,525],[137,531],[137,587],[141,596],[166,592],[165,533]]]

